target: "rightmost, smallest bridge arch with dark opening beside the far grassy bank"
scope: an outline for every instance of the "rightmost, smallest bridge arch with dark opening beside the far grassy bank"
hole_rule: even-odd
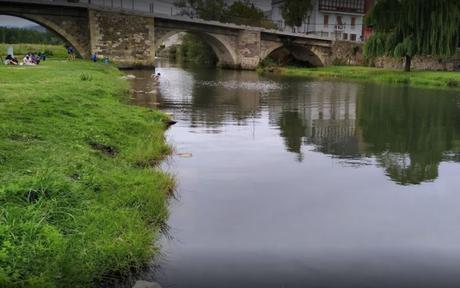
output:
[[[275,58],[280,61],[285,61],[289,57],[297,61],[305,62],[307,65],[313,67],[322,67],[326,65],[326,56],[321,50],[311,46],[304,45],[289,45],[283,43],[275,43],[270,45],[265,51],[261,53],[261,60],[267,58]]]

